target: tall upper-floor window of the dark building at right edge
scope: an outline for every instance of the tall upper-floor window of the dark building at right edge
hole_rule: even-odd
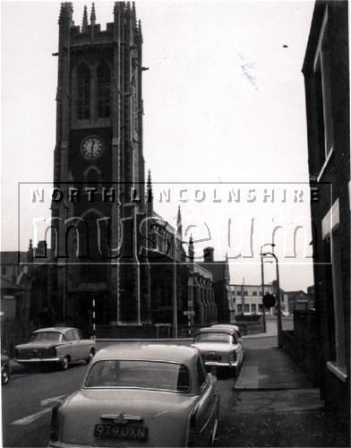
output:
[[[328,7],[325,9],[320,39],[314,57],[314,82],[319,148],[316,168],[317,171],[321,173],[333,148],[330,95],[330,50],[328,46]]]

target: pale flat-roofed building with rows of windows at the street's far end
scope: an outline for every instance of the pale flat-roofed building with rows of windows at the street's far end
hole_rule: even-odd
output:
[[[262,314],[262,286],[261,285],[245,285],[232,284],[230,288],[235,295],[235,312],[236,314]],[[275,296],[274,284],[264,285],[264,294],[272,294]],[[280,311],[288,311],[287,293],[280,289]],[[277,306],[266,309],[266,314],[277,314]]]

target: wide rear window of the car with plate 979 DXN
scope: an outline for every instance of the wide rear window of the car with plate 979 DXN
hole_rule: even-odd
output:
[[[91,366],[84,387],[123,387],[189,392],[191,379],[186,366],[175,363],[107,359]]]

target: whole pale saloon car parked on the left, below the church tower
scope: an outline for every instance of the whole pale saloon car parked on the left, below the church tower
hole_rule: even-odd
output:
[[[24,366],[59,366],[66,370],[73,361],[87,363],[95,355],[95,341],[84,340],[72,327],[42,328],[33,332],[27,344],[14,348],[15,360]]]

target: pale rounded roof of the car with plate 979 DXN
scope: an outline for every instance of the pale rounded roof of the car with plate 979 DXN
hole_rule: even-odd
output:
[[[184,345],[167,345],[150,342],[121,342],[98,350],[93,362],[102,359],[147,359],[169,361],[185,366],[193,366],[193,360],[199,355],[199,350]]]

